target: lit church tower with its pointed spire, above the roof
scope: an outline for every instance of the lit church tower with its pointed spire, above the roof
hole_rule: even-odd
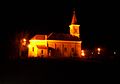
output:
[[[70,34],[80,38],[80,31],[79,31],[80,25],[77,24],[75,10],[73,10],[72,22],[71,22],[71,25],[69,25],[69,27],[70,27]]]

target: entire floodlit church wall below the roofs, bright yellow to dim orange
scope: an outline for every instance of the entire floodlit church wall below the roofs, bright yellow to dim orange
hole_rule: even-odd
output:
[[[43,47],[42,47],[43,46]],[[40,47],[40,48],[39,48]],[[48,48],[54,49],[49,51]],[[48,57],[48,56],[79,56],[81,51],[81,41],[62,41],[62,40],[36,40],[30,41],[29,57]],[[54,53],[54,54],[52,54]],[[50,55],[52,54],[52,55]]]

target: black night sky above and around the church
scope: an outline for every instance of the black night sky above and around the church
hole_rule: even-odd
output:
[[[117,1],[117,0],[116,0]],[[1,7],[0,47],[8,48],[16,34],[69,33],[76,10],[83,48],[116,49],[119,41],[119,3],[109,0],[40,0],[4,2]],[[11,48],[11,47],[10,47]]]

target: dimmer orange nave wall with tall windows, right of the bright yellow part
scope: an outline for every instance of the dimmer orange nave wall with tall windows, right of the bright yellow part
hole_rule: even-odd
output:
[[[77,41],[62,41],[62,40],[48,40],[48,47],[52,47],[56,51],[56,56],[64,56],[69,57],[72,56],[73,53],[80,53],[81,45],[76,44]],[[81,44],[81,42],[79,43]],[[72,51],[73,49],[73,51]],[[75,50],[78,50],[76,52]],[[79,56],[80,54],[78,54]]]

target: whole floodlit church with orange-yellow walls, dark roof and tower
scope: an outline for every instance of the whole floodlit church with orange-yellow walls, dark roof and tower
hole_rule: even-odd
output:
[[[80,25],[77,24],[75,11],[69,25],[69,34],[37,34],[29,40],[28,58],[30,57],[81,57]]]

